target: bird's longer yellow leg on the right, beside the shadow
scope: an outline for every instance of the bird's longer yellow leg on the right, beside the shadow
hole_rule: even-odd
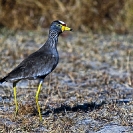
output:
[[[38,85],[37,92],[36,92],[36,105],[37,105],[37,110],[38,110],[38,113],[39,113],[40,121],[42,121],[42,115],[41,115],[40,106],[39,106],[39,103],[38,103],[38,96],[39,96],[39,93],[40,93],[40,90],[41,90],[41,87],[42,87],[42,83],[43,83],[43,80],[41,79],[40,82],[39,82],[39,85]]]

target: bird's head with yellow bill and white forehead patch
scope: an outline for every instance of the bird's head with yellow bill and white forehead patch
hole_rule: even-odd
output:
[[[53,21],[50,30],[56,30],[58,33],[62,33],[63,31],[72,31],[71,28],[67,27],[66,23],[60,20]]]

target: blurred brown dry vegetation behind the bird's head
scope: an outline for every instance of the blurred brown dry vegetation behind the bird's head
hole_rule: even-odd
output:
[[[132,7],[133,0],[0,0],[0,27],[39,30],[60,19],[82,32],[128,33]]]

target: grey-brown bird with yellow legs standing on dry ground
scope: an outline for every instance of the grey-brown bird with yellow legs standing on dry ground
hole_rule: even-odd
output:
[[[72,31],[72,29],[61,20],[53,21],[49,28],[49,35],[46,43],[44,43],[39,50],[25,58],[4,78],[0,79],[1,84],[3,82],[12,82],[13,84],[15,115],[18,114],[16,84],[22,79],[38,80],[39,84],[36,91],[35,100],[39,119],[42,121],[38,97],[45,77],[55,69],[59,62],[57,43],[59,35],[64,31]]]

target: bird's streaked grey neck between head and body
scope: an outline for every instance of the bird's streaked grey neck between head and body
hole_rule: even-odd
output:
[[[59,33],[57,31],[50,30],[46,45],[51,48],[56,48],[58,43],[58,36],[59,36]]]

